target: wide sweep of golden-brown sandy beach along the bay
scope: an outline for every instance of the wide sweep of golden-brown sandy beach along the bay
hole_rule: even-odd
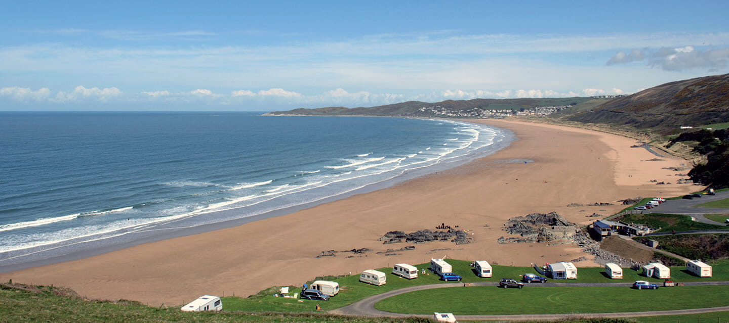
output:
[[[507,236],[502,224],[515,216],[554,211],[587,224],[595,219],[588,218],[593,213],[607,216],[623,209],[619,199],[698,191],[698,186],[676,184],[685,178],[677,174],[687,170],[666,169],[690,167],[684,160],[631,148],[636,140],[630,138],[518,121],[474,122],[510,129],[519,140],[492,156],[380,191],[235,228],[0,274],[0,279],[70,287],[88,298],[178,306],[200,295],[247,296],[271,286],[301,285],[316,276],[430,258],[515,266],[591,259],[573,244],[498,244],[496,239]],[[567,206],[595,202],[615,205]],[[475,241],[416,244],[415,250],[397,255],[384,252],[409,244],[378,241],[387,231],[434,230],[441,223],[472,231]],[[359,248],[373,251],[316,258],[326,250]]]

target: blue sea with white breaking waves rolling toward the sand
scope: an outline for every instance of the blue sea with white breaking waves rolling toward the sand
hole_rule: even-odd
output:
[[[458,121],[260,114],[0,112],[0,269],[285,214],[513,138]]]

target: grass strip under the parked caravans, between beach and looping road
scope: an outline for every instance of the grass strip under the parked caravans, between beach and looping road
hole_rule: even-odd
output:
[[[480,278],[475,276],[470,261],[448,259],[448,263],[453,266],[456,274],[463,276],[461,283],[467,282],[499,282],[502,278],[521,279],[521,275],[532,273],[537,274],[531,267],[512,267],[492,265],[494,276],[491,278]],[[698,282],[698,281],[729,281],[729,260],[717,260],[710,263],[714,266],[714,276],[709,278],[700,278],[693,276],[686,271],[685,267],[671,267],[671,279],[674,282]],[[387,284],[382,286],[374,286],[359,282],[359,274],[346,276],[338,279],[331,279],[340,284],[340,292],[330,300],[302,300],[297,298],[281,298],[273,297],[278,287],[272,287],[268,290],[260,292],[258,295],[250,298],[226,297],[223,298],[223,307],[226,311],[247,311],[247,312],[266,312],[266,311],[289,311],[289,312],[305,312],[315,311],[316,304],[322,309],[330,310],[347,306],[356,301],[370,297],[372,295],[381,294],[390,290],[399,290],[403,287],[410,287],[423,284],[445,284],[438,280],[435,274],[422,274],[424,268],[429,267],[429,263],[421,263],[416,265],[418,268],[418,278],[404,279],[391,274],[391,268],[379,268],[379,271],[386,273]],[[429,273],[426,270],[426,273]],[[655,283],[662,283],[663,279],[654,279],[639,276],[639,271],[623,268],[623,279],[609,279],[604,274],[604,268],[601,267],[580,267],[577,268],[577,279],[552,280],[548,282],[559,282],[565,284],[578,282],[634,282],[636,280],[647,280]],[[539,283],[532,283],[539,284]],[[300,288],[292,287],[289,295],[295,292],[301,292]]]

